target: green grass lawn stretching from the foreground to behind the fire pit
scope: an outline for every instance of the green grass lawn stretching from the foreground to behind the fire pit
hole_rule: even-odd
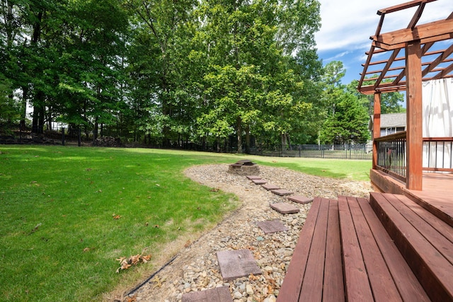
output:
[[[190,165],[251,158],[352,180],[366,180],[371,165],[156,149],[0,150],[2,301],[101,300],[149,276],[171,257],[168,243],[196,238],[239,206],[185,178]],[[115,259],[144,250],[153,261],[115,274]]]

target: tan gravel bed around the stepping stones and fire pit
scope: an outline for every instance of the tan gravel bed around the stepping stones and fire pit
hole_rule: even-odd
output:
[[[228,165],[200,165],[185,170],[192,180],[208,187],[236,194],[241,207],[209,232],[178,252],[159,274],[130,297],[135,301],[181,301],[184,293],[217,286],[229,286],[234,302],[271,302],[280,286],[299,238],[310,204],[297,204],[254,185],[245,176],[227,172]],[[284,168],[260,166],[259,176],[270,184],[306,197],[336,198],[338,195],[369,197],[369,182],[334,180],[297,173]],[[274,202],[289,202],[299,207],[298,214],[279,214],[270,209]],[[260,221],[280,219],[287,231],[265,235]],[[249,249],[263,274],[222,280],[216,252]]]

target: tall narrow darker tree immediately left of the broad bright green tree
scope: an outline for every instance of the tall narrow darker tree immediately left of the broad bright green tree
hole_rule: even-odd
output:
[[[127,7],[134,12],[138,31],[132,45],[138,62],[130,61],[130,70],[136,76],[142,75],[135,79],[139,85],[148,86],[148,95],[152,95],[149,114],[139,121],[139,128],[161,136],[164,146],[170,146],[178,139],[178,125],[187,122],[191,113],[183,105],[190,102],[183,84],[183,70],[190,53],[188,41],[193,35],[191,18],[195,1],[130,0]],[[134,47],[145,52],[140,56]]]

